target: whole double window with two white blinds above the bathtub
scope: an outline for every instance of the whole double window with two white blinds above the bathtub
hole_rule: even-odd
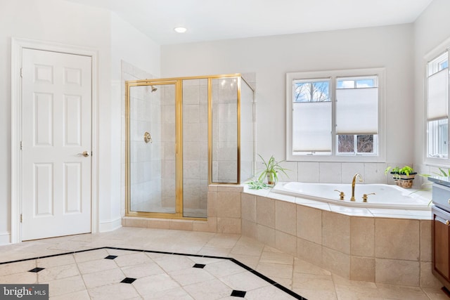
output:
[[[383,69],[288,73],[287,159],[382,160],[383,74]]]

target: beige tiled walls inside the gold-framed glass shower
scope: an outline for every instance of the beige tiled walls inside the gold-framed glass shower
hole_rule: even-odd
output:
[[[246,74],[255,86],[255,74]],[[126,80],[153,78],[151,74],[122,62],[122,86]],[[133,210],[172,212],[176,197],[175,167],[175,89],[174,85],[158,85],[133,89],[131,96],[131,169]],[[255,103],[252,90],[241,85],[241,180],[248,179],[254,169]],[[217,146],[215,173],[220,182],[237,181],[237,82],[236,78],[216,79],[213,87],[213,142]],[[124,91],[122,93],[124,99]],[[124,100],[123,100],[124,103]],[[122,150],[125,155],[125,107],[122,106]],[[207,79],[183,81],[183,178],[184,216],[207,216],[208,136]],[[153,142],[144,143],[143,133],[150,132]],[[122,174],[125,174],[124,159]],[[125,198],[122,180],[122,199]],[[150,205],[151,203],[151,205]],[[159,209],[158,209],[159,208]],[[124,211],[124,205],[122,205]]]

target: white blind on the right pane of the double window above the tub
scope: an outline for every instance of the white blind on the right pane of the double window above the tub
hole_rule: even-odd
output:
[[[336,89],[336,134],[378,133],[378,88]]]

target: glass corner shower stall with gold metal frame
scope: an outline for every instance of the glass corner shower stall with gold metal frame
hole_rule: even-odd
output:
[[[240,74],[126,81],[126,215],[205,219],[208,185],[252,178],[254,93]]]

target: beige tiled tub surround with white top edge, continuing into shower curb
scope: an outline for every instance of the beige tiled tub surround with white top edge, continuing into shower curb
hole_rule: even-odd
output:
[[[441,287],[431,273],[430,211],[364,209],[210,185],[207,221],[126,218],[124,226],[237,233],[350,280]]]

